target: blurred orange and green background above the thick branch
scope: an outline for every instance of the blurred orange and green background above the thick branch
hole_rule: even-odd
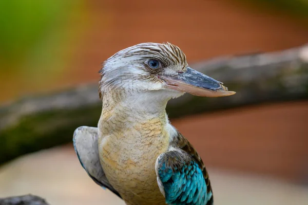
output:
[[[5,22],[0,34],[0,86],[9,87],[2,89],[0,102],[97,82],[101,62],[141,42],[174,43],[192,63],[219,55],[286,49],[308,41],[306,16],[260,3],[58,0],[0,4]]]

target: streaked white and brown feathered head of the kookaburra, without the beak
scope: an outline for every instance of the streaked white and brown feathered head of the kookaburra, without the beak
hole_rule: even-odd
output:
[[[170,43],[142,43],[107,59],[100,70],[100,94],[106,88],[127,92],[165,90],[161,76],[173,76],[188,67],[184,52]],[[169,91],[171,97],[184,92]]]

